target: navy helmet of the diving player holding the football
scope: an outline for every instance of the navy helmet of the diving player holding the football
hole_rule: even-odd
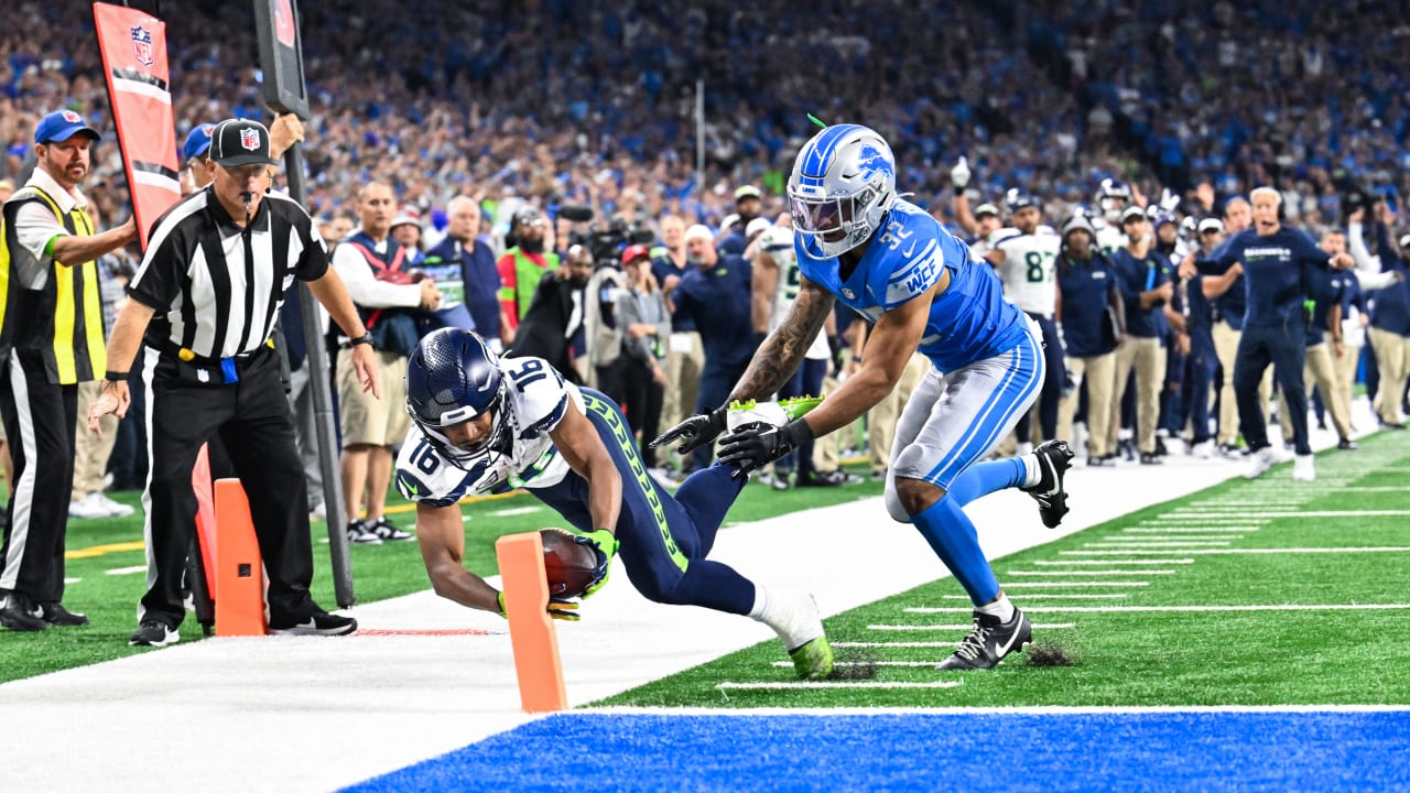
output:
[[[499,357],[458,327],[427,333],[406,364],[406,412],[443,457],[465,466],[489,453],[506,454],[513,440]],[[474,447],[450,442],[444,428],[491,413],[491,432]]]

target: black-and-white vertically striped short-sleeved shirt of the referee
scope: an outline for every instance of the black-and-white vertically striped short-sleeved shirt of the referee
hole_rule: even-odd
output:
[[[157,312],[148,346],[228,358],[269,339],[295,278],[327,270],[323,237],[292,199],[265,193],[245,233],[206,188],[157,222],[127,293]]]

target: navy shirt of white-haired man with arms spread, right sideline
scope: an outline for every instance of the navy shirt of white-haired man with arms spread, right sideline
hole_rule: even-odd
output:
[[[1314,291],[1313,271],[1331,258],[1311,237],[1279,229],[1261,237],[1249,229],[1225,240],[1210,258],[1220,267],[1244,264],[1248,306],[1244,327],[1293,327],[1303,320],[1303,301]]]

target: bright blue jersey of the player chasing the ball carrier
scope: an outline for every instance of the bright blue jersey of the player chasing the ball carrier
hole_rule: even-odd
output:
[[[885,227],[846,281],[836,257],[823,258],[811,236],[794,240],[804,277],[871,322],[924,295],[949,270],[950,285],[931,305],[918,349],[940,371],[1007,353],[1028,336],[1026,317],[1004,299],[994,270],[970,261],[964,243],[911,202],[893,205]]]

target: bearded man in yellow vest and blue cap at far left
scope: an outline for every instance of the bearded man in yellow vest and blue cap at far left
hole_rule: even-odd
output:
[[[79,183],[99,138],[73,110],[34,131],[38,165],[4,205],[0,253],[0,415],[14,484],[0,550],[0,625],[87,625],[63,608],[63,535],[73,488],[79,382],[107,365],[93,260],[137,238],[137,224],[96,234]]]

